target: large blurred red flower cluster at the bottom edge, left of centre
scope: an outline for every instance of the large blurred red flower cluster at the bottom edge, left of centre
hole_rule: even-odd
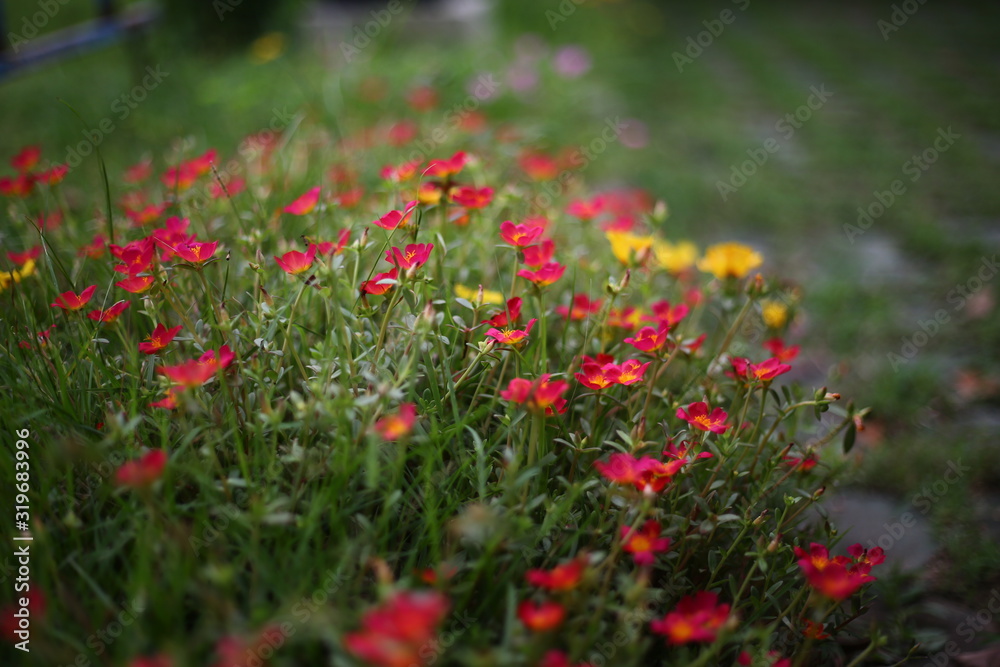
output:
[[[438,591],[396,592],[381,606],[365,612],[361,629],[344,636],[344,647],[377,667],[427,664],[426,646],[433,641],[449,606],[448,598]]]

